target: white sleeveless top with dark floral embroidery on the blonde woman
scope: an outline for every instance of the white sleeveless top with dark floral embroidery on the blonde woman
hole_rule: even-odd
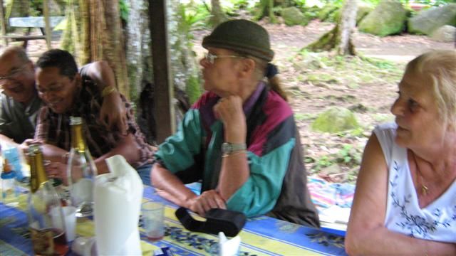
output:
[[[374,129],[389,172],[385,227],[413,238],[456,242],[456,181],[442,196],[420,208],[407,150],[394,142],[396,128],[395,123],[388,123]]]

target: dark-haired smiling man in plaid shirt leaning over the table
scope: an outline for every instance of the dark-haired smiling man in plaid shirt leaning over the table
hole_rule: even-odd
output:
[[[36,62],[36,89],[46,103],[38,114],[35,139],[43,143],[43,154],[52,163],[46,167],[48,175],[66,177],[66,156],[71,149],[71,116],[85,122],[83,136],[95,159],[98,174],[108,172],[105,159],[115,154],[125,157],[138,170],[143,183],[150,183],[150,167],[154,148],[147,144],[140,132],[130,102],[123,98],[127,109],[126,133],[100,120],[103,96],[95,80],[88,77],[86,66],[78,68],[73,56],[65,50],[48,50]],[[110,76],[108,76],[110,77]]]

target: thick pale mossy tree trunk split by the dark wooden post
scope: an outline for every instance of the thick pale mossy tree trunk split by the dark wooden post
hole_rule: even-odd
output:
[[[152,42],[149,31],[149,15],[147,0],[135,0],[130,6],[127,22],[127,62],[130,92],[132,100],[137,103],[138,124],[147,142],[154,143],[156,139],[154,98],[155,92],[152,74]],[[185,22],[178,0],[167,3],[167,30],[170,48],[170,66],[174,87],[176,123],[188,110],[190,100],[187,95],[199,97],[202,93],[199,78],[199,68],[192,51],[190,30],[182,31],[188,26]]]

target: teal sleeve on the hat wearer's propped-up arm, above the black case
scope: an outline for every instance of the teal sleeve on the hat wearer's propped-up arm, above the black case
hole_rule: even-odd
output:
[[[248,153],[250,177],[227,201],[229,210],[237,210],[247,217],[264,215],[274,208],[289,165],[295,139],[264,156]]]

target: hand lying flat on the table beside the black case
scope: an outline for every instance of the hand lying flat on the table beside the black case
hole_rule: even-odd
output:
[[[204,191],[201,195],[190,201],[190,210],[204,217],[204,214],[212,208],[226,209],[227,206],[222,196],[215,190]]]

